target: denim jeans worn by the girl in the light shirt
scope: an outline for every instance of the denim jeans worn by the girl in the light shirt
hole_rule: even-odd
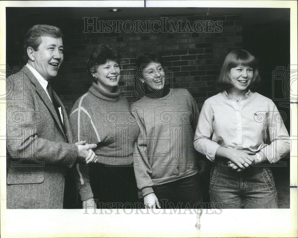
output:
[[[216,208],[277,208],[273,175],[264,166],[237,172],[227,163],[216,163],[211,170],[209,192]]]

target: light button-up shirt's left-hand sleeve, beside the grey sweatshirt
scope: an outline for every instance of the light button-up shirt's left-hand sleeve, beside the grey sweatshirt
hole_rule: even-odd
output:
[[[212,108],[205,102],[201,109],[198,125],[195,130],[193,146],[195,150],[206,155],[207,159],[214,162],[216,151],[220,145],[211,140],[213,135],[213,120]]]

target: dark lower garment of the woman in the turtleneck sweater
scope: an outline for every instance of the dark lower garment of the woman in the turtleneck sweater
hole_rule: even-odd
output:
[[[105,165],[89,166],[90,185],[97,208],[136,208],[138,193],[134,166]]]

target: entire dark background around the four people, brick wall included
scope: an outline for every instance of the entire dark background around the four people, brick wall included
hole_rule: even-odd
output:
[[[168,17],[168,20],[177,22],[196,20],[220,20],[223,21],[221,33],[83,33],[84,20],[71,16],[70,8],[60,11],[65,16],[41,19],[35,14],[35,9],[7,8],[6,11],[6,63],[10,69],[20,69],[25,62],[22,60],[22,44],[27,30],[35,24],[50,24],[58,26],[64,33],[63,44],[65,46],[64,61],[54,81],[54,89],[62,99],[69,113],[74,102],[91,85],[91,76],[86,70],[86,61],[92,49],[101,43],[114,43],[122,52],[121,79],[122,95],[130,101],[134,100],[134,81],[125,78],[129,67],[133,67],[136,58],[145,52],[157,51],[164,56],[163,66],[172,72],[171,85],[174,88],[188,89],[201,109],[204,101],[219,92],[215,81],[218,77],[221,65],[227,53],[236,48],[243,48],[255,55],[260,60],[260,75],[262,85],[257,89],[260,94],[271,98],[279,111],[285,112],[285,126],[290,130],[289,98],[283,98],[283,82],[274,82],[272,72],[277,66],[288,68],[290,64],[290,11],[278,9],[277,18],[270,16],[268,21],[252,23],[245,14],[237,15],[161,15],[153,18],[138,18],[142,21],[160,20]],[[160,10],[160,9],[157,9]],[[263,13],[272,9],[263,9]],[[30,14],[19,14],[30,11]],[[39,9],[36,12],[43,12]],[[54,9],[57,11],[57,9]],[[280,12],[287,12],[280,14]],[[32,12],[32,13],[31,13]],[[84,10],[83,10],[84,12]],[[160,12],[160,11],[159,11]],[[218,11],[220,12],[220,11]],[[88,10],[85,10],[88,15]],[[234,14],[234,10],[232,11]],[[235,14],[239,13],[235,9]],[[252,13],[252,19],[258,16]],[[249,13],[249,14],[250,14]],[[42,14],[41,14],[42,15]],[[61,15],[61,14],[60,14]],[[247,15],[247,14],[246,14]],[[260,14],[262,15],[262,14]],[[20,16],[20,17],[19,17]],[[268,15],[267,15],[268,16]],[[282,16],[288,16],[282,18]],[[249,16],[250,17],[250,16]],[[116,19],[116,18],[115,18]],[[101,19],[101,20],[115,20]],[[245,20],[246,19],[246,20]],[[119,19],[117,20],[136,20]],[[296,52],[295,52],[296,53]],[[274,99],[273,92],[278,94]],[[288,157],[282,159],[288,163]],[[279,208],[289,208],[289,163],[286,167],[275,166],[273,168],[276,181]],[[205,178],[209,181],[209,178]],[[203,181],[203,180],[202,180]],[[208,186],[205,193],[208,194]]]

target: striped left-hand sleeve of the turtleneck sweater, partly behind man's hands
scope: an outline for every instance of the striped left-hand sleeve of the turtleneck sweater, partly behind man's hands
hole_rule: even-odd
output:
[[[91,116],[83,107],[73,110],[70,114],[69,121],[72,126],[72,134],[75,142],[86,140],[89,144],[97,144],[100,141]],[[81,200],[85,201],[93,198],[87,164],[77,163],[74,167],[75,179]]]

